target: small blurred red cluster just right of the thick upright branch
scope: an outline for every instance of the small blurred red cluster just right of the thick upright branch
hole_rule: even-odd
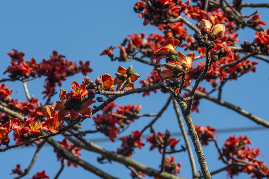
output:
[[[199,137],[199,141],[202,145],[208,145],[209,141],[212,141],[214,136],[217,136],[214,131],[216,128],[206,126],[202,127],[199,125],[195,125],[195,131],[197,132],[197,135]]]

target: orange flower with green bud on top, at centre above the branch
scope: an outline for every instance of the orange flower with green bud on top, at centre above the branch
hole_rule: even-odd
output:
[[[121,65],[118,67],[117,70],[118,73],[122,74],[124,76],[124,78],[127,77],[126,74],[126,68],[122,67]],[[123,88],[121,90],[123,90],[124,88],[126,88],[127,90],[130,89],[135,89],[133,82],[135,82],[141,75],[137,74],[137,73],[133,73],[129,79],[128,82],[123,86]],[[124,80],[124,79],[123,79]],[[114,78],[114,84],[117,85],[116,90],[118,90],[122,84],[122,80],[119,80],[117,77]]]

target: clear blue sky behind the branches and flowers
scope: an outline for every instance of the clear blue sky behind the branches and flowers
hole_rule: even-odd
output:
[[[19,0],[0,1],[0,72],[4,72],[10,63],[10,58],[6,55],[14,48],[25,53],[25,60],[35,58],[37,62],[42,59],[49,59],[53,50],[57,50],[59,54],[63,54],[69,60],[90,60],[90,67],[94,70],[88,76],[92,79],[99,77],[101,74],[109,73],[114,76],[119,65],[128,67],[133,65],[134,72],[142,75],[140,79],[146,78],[146,75],[152,70],[152,67],[142,65],[138,62],[111,62],[106,56],[99,56],[103,49],[110,45],[117,46],[123,39],[133,32],[145,32],[146,35],[152,32],[161,32],[150,25],[143,26],[143,20],[138,18],[138,14],[134,13],[133,6],[135,0],[117,0],[117,1],[86,1],[86,0],[58,0],[58,1],[27,1]],[[248,1],[246,1],[248,2]],[[251,2],[249,0],[249,2]],[[255,1],[259,3],[259,1]],[[263,0],[260,0],[263,2]],[[243,12],[250,14],[254,12],[252,8],[246,8]],[[262,21],[269,24],[269,19],[266,18],[268,11],[265,8],[258,9],[261,14]],[[266,25],[265,29],[268,28]],[[192,31],[189,31],[192,33]],[[246,31],[240,31],[241,42],[245,39],[253,41],[254,31],[246,28]],[[177,49],[179,50],[179,49]],[[183,51],[183,50],[182,50]],[[115,54],[118,51],[115,50]],[[197,53],[198,54],[198,53]],[[254,60],[254,59],[251,59]],[[242,107],[246,111],[253,113],[263,119],[268,120],[268,101],[269,95],[269,65],[261,60],[257,65],[256,73],[248,73],[238,80],[229,82],[223,91],[223,100]],[[7,75],[1,75],[1,78]],[[76,80],[79,83],[83,80],[82,74],[75,75],[62,84],[62,88],[71,90],[72,81]],[[43,80],[29,82],[30,95],[42,99],[41,91],[43,91]],[[6,82],[13,90],[12,97],[25,101],[23,87],[20,82]],[[203,81],[202,86],[210,90],[207,82]],[[136,87],[140,87],[135,83]],[[59,88],[58,88],[59,89]],[[217,94],[213,94],[216,96]],[[128,98],[128,100],[127,100]],[[167,94],[162,94],[160,91],[157,94],[150,94],[149,97],[142,98],[141,94],[122,97],[116,100],[120,105],[142,104],[141,113],[155,113],[166,102]],[[58,100],[58,95],[52,100]],[[41,100],[42,101],[42,100]],[[169,129],[170,132],[179,132],[179,127],[176,122],[173,107],[170,104],[168,110],[163,114],[162,118],[154,125],[157,131],[164,132]],[[217,106],[214,103],[203,99],[199,105],[200,113],[193,113],[192,118],[195,124],[210,125],[217,129],[236,128],[257,126],[249,119],[227,109],[222,106]],[[152,118],[140,118],[130,126],[130,129],[125,131],[123,135],[128,135],[132,130],[141,130],[144,125],[148,124]],[[92,119],[83,122],[86,129],[94,130]],[[149,134],[149,131],[145,132]],[[260,148],[263,158],[259,158],[269,164],[268,154],[268,130],[261,131],[246,131],[246,132],[231,132],[218,134],[219,145],[222,146],[224,141],[230,135],[248,135],[253,143],[253,147]],[[93,134],[87,136],[89,139],[104,137],[102,134]],[[61,136],[54,137],[55,140],[62,140]],[[179,146],[183,144],[181,139]],[[146,143],[146,141],[143,141]],[[116,151],[120,147],[120,142],[99,142],[107,150]],[[178,147],[179,147],[178,146]],[[132,155],[134,160],[141,162],[153,168],[158,168],[161,155],[157,151],[148,152],[149,144],[146,144],[143,150],[136,149]],[[218,154],[213,144],[203,147],[207,163],[210,171],[214,171],[224,166],[218,161]],[[15,177],[10,176],[11,169],[14,169],[16,164],[21,164],[22,169],[26,168],[34,154],[34,147],[24,147],[11,149],[4,153],[0,153],[1,161],[5,161],[4,167],[0,168],[0,174],[3,179]],[[127,179],[130,171],[124,166],[113,162],[113,164],[98,164],[96,158],[99,155],[89,152],[82,152],[82,158],[98,168],[105,170],[115,177]],[[182,162],[181,173],[182,177],[190,178],[190,164],[188,162],[187,153],[175,155],[176,162]],[[198,165],[198,162],[197,162]],[[31,178],[37,171],[45,170],[46,173],[53,178],[60,168],[60,162],[57,162],[56,153],[50,146],[45,146],[37,159],[36,164],[32,168],[30,174],[23,179]],[[91,174],[88,171],[78,167],[66,168],[60,176],[60,179],[66,178],[91,178],[99,179],[99,177]],[[215,178],[225,178],[226,172],[222,172]],[[147,178],[147,177],[146,177]],[[213,177],[214,178],[214,177]],[[250,178],[250,176],[240,175],[235,179]]]

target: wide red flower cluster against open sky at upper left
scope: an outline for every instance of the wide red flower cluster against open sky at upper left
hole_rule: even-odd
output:
[[[36,63],[34,58],[31,61],[24,61],[24,53],[12,50],[13,53],[7,54],[11,57],[11,65],[4,73],[10,73],[11,79],[28,79],[30,76],[35,77],[36,75],[38,77],[46,76],[46,85],[44,86],[46,90],[42,92],[45,94],[44,98],[52,96],[55,84],[61,86],[61,81],[65,80],[65,77],[79,72],[82,72],[83,75],[92,72],[92,69],[89,68],[89,61],[85,64],[80,61],[80,66],[78,66],[76,62],[73,63],[65,59],[64,55],[58,55],[57,51],[52,52],[49,60],[43,59],[42,62]]]

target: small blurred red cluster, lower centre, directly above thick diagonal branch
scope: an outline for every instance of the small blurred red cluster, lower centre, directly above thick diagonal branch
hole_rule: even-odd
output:
[[[126,157],[130,157],[134,151],[134,148],[138,147],[138,149],[142,149],[142,146],[145,144],[141,142],[142,135],[140,135],[140,131],[133,131],[131,135],[123,136],[120,140],[123,142],[121,148],[117,149],[117,153],[124,155]]]

